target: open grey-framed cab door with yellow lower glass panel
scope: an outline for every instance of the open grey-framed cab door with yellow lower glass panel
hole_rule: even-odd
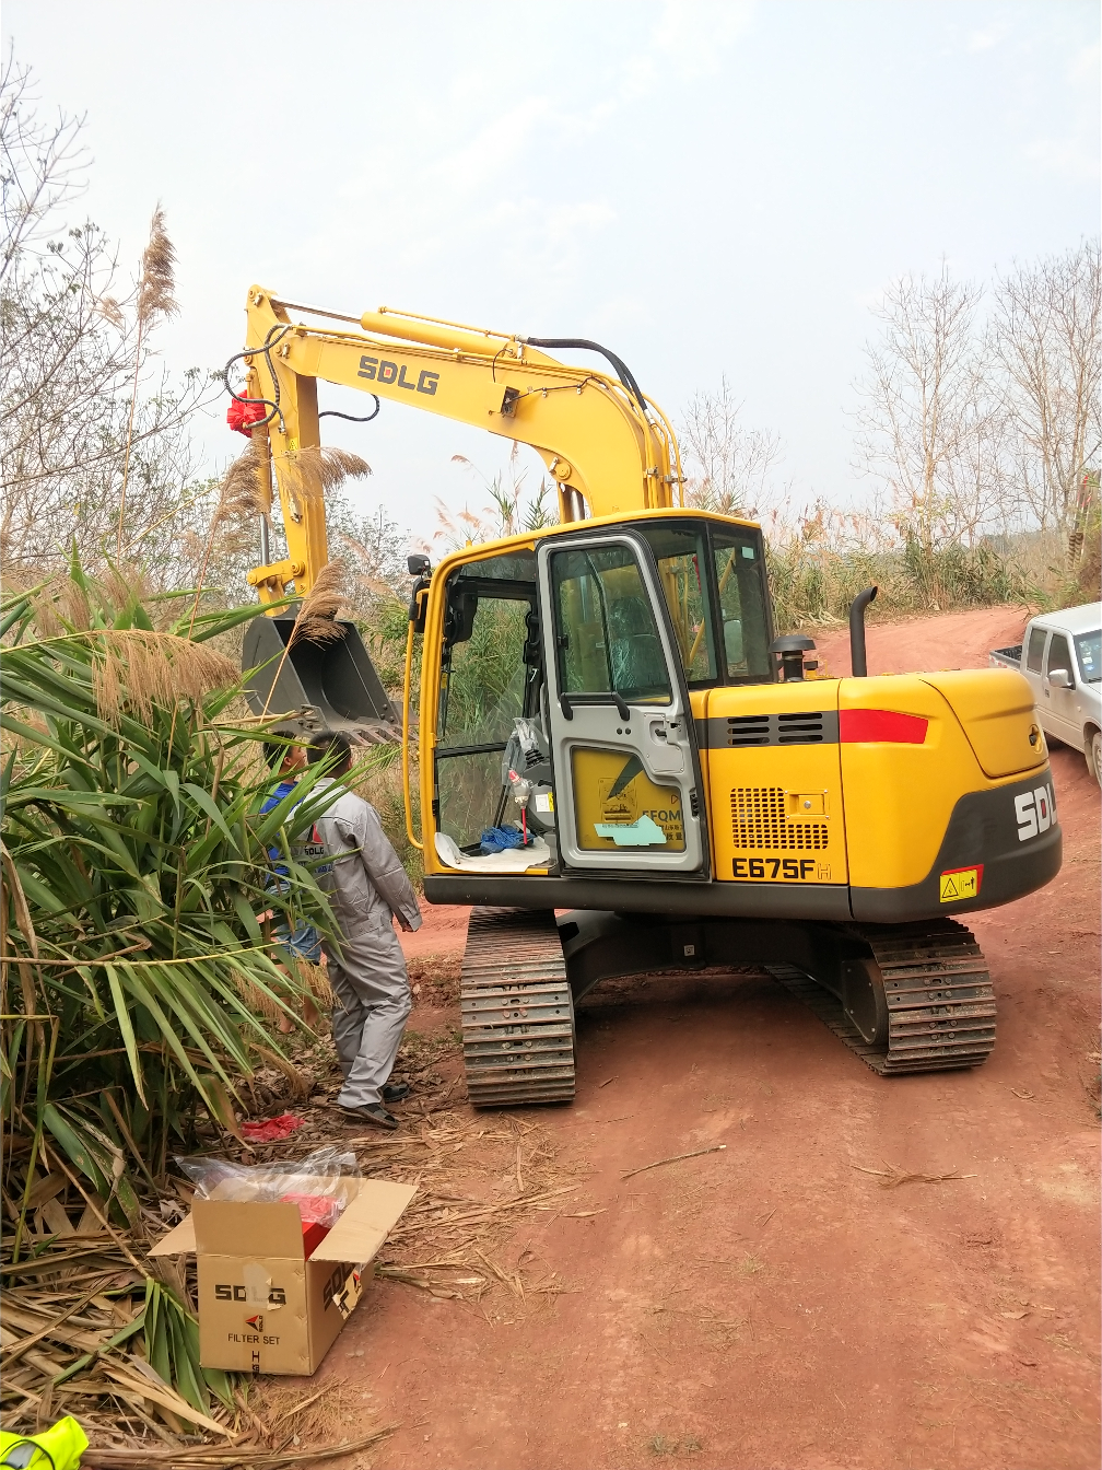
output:
[[[555,537],[538,576],[561,861],[707,878],[689,695],[647,544]]]

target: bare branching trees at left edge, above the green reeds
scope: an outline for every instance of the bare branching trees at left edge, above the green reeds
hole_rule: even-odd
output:
[[[188,426],[209,375],[195,369],[172,384],[157,368],[145,262],[118,300],[104,232],[66,228],[82,187],[82,119],[41,123],[31,75],[10,56],[0,121],[0,557],[7,570],[34,573],[59,564],[75,537],[93,569],[107,556],[137,557],[156,585],[173,585],[176,522],[204,494],[192,484]],[[122,516],[126,473],[134,491]]]

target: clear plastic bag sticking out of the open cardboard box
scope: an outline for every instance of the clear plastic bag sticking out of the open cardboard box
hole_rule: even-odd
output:
[[[176,1158],[201,1200],[287,1201],[298,1205],[303,1225],[332,1229],[360,1179],[356,1154],[317,1148],[306,1158],[276,1158],[269,1164],[235,1164],[229,1158]]]

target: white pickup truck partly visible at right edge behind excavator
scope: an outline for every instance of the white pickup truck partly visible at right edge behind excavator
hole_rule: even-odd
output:
[[[1026,675],[1040,728],[1081,750],[1102,785],[1102,603],[1040,613],[1024,639],[995,648],[990,663]]]

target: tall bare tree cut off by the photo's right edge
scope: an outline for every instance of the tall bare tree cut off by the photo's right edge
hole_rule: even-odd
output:
[[[1099,241],[1015,263],[995,287],[993,338],[1005,375],[1008,472],[1040,528],[1064,537],[1102,441]]]

